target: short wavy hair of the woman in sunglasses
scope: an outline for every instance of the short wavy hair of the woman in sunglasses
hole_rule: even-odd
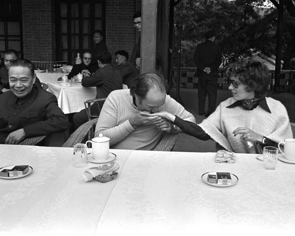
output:
[[[255,97],[265,96],[270,82],[271,74],[267,66],[262,62],[252,58],[243,58],[235,61],[226,74],[228,76],[238,76],[242,84],[246,85],[246,91],[254,91]]]

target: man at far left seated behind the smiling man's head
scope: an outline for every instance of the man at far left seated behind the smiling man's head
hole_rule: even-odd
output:
[[[4,55],[4,65],[0,69],[0,94],[10,90],[9,81],[8,81],[8,69],[10,63],[18,59],[18,52],[14,49],[9,49],[5,52]],[[36,77],[35,85],[42,88],[40,80]]]

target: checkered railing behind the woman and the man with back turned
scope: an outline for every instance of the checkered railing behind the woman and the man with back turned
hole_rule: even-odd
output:
[[[218,69],[219,78],[218,84],[220,89],[228,89],[229,84],[226,83],[226,69]],[[274,70],[270,70],[272,84],[269,85],[269,89],[273,90],[274,85]],[[177,78],[177,68],[173,67],[174,83]],[[197,68],[180,68],[180,84],[184,88],[198,88],[198,75]],[[175,87],[175,85],[174,85]],[[279,92],[295,93],[295,70],[281,70],[280,88]]]

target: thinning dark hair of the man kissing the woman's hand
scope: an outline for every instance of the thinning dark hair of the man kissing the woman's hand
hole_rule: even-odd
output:
[[[135,77],[130,84],[130,95],[135,97],[139,96],[141,99],[145,99],[148,91],[151,88],[156,88],[160,92],[166,92],[167,81],[163,75],[144,73]]]

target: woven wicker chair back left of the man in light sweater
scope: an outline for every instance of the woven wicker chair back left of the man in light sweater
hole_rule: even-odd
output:
[[[75,144],[85,143],[85,137],[89,134],[89,131],[96,125],[98,118],[87,121],[82,124],[75,132],[69,137],[69,139],[62,145],[63,148],[73,148]],[[93,138],[91,136],[88,140]]]

